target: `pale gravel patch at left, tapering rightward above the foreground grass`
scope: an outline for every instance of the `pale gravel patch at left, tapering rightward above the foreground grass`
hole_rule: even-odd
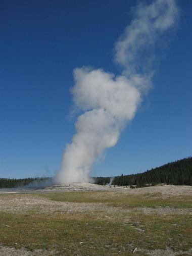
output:
[[[94,202],[61,202],[53,201],[48,198],[28,195],[1,195],[0,196],[0,211],[6,213],[27,213],[35,210],[36,213],[85,213],[94,215],[95,212],[111,215],[119,213],[119,209],[106,206],[105,203]],[[125,212],[124,210],[122,210]],[[99,218],[99,215],[98,215]],[[1,255],[1,254],[0,254]]]

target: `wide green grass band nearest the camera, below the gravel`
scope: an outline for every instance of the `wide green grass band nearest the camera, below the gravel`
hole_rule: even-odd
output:
[[[192,247],[189,215],[160,217],[135,213],[128,223],[97,220],[87,214],[0,214],[0,240],[29,250],[59,249],[66,255],[129,255],[134,247],[188,250]],[[141,227],[144,232],[136,228]],[[80,244],[80,242],[83,242]],[[94,253],[93,253],[94,250]],[[145,255],[138,252],[140,255]]]

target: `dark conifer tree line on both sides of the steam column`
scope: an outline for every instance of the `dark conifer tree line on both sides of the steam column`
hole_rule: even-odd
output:
[[[111,181],[111,177],[93,177],[95,184],[106,185]],[[5,179],[0,178],[0,188],[11,188],[26,186],[30,183],[40,184],[49,181],[51,178],[26,178],[26,179]],[[112,185],[120,186],[153,186],[159,183],[173,185],[192,185],[192,157],[152,168],[143,173],[121,175],[113,178]]]

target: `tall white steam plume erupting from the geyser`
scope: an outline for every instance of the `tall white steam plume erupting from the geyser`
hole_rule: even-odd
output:
[[[174,27],[178,8],[174,0],[156,0],[138,4],[133,12],[131,24],[115,44],[120,76],[88,67],[74,70],[73,99],[84,114],[75,123],[76,134],[66,146],[56,182],[87,182],[95,159],[117,143],[152,86],[155,44]]]

